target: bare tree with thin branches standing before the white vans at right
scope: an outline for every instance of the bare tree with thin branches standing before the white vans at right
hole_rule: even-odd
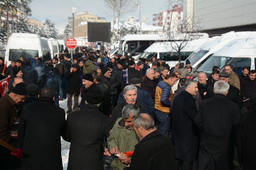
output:
[[[201,19],[194,18],[194,14],[185,14],[183,19],[174,19],[173,25],[169,25],[163,39],[165,41],[172,41],[171,46],[173,50],[178,52],[178,61],[181,61],[180,51],[187,45],[189,41],[198,39],[200,37],[200,30],[202,27],[199,26]]]

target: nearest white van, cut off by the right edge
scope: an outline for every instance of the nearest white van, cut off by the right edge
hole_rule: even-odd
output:
[[[212,67],[220,67],[220,71],[226,64],[230,64],[235,73],[240,74],[244,66],[255,69],[256,38],[240,38],[233,40],[212,55],[198,69],[211,74]]]

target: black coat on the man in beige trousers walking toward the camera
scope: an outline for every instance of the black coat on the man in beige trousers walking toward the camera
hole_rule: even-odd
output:
[[[77,72],[70,72],[68,71],[64,77],[67,79],[66,84],[66,93],[73,95],[75,91],[75,95],[79,96],[80,88],[81,88],[81,79],[82,79],[82,72],[78,69]]]

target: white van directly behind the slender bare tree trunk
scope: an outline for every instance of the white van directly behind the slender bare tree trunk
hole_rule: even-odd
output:
[[[188,58],[188,56],[193,53],[194,50],[198,49],[201,45],[208,42],[211,38],[199,38],[197,40],[189,41],[181,52],[181,61]],[[181,42],[176,42],[178,45]],[[152,59],[153,56],[156,56],[160,60],[164,60],[166,64],[170,67],[175,66],[178,63],[178,52],[174,50],[173,47],[177,47],[175,42],[156,42],[149,46],[143,53],[141,53],[139,58]]]

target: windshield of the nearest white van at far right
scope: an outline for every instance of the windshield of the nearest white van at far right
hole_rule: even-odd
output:
[[[206,60],[206,62],[197,71],[198,72],[203,71],[208,74],[211,74],[213,66],[218,66],[218,67],[222,68],[231,59],[232,59],[231,57],[211,56],[209,59]]]

